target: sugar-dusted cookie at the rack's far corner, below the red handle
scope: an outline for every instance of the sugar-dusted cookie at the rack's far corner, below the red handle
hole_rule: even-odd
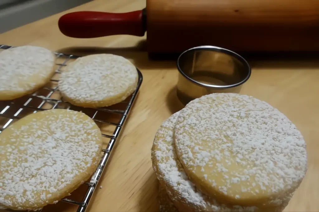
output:
[[[93,54],[71,62],[61,74],[59,90],[73,105],[96,108],[125,100],[137,86],[136,67],[113,54]]]

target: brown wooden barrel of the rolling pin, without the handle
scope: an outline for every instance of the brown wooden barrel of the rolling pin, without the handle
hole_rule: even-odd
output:
[[[151,53],[219,46],[236,52],[319,51],[319,1],[147,0]]]

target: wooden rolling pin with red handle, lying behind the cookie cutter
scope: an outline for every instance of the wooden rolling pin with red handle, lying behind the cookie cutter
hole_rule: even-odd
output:
[[[233,51],[318,51],[318,0],[147,0],[127,13],[63,15],[69,37],[144,36],[149,53],[180,53],[212,45]]]

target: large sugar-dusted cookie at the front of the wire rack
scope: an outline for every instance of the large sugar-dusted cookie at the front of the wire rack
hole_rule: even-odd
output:
[[[94,173],[102,137],[82,112],[30,114],[0,133],[0,205],[34,210],[70,195]]]

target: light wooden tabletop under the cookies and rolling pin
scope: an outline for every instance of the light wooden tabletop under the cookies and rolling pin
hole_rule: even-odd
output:
[[[70,11],[127,12],[144,7],[145,0],[95,0]],[[57,21],[66,12],[3,33],[0,43],[43,46],[79,55],[114,53],[130,59],[141,70],[144,81],[136,104],[100,180],[102,188],[97,188],[87,211],[158,211],[151,146],[159,125],[181,109],[174,90],[177,81],[175,61],[149,60],[144,47],[145,37],[65,37],[59,31]],[[319,211],[319,61],[254,60],[250,64],[252,75],[241,93],[278,108],[296,124],[307,142],[308,172],[285,211]],[[74,207],[64,203],[46,211],[56,207],[59,211],[74,211]]]

